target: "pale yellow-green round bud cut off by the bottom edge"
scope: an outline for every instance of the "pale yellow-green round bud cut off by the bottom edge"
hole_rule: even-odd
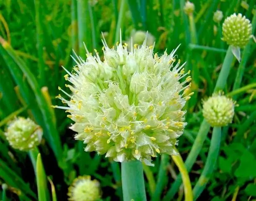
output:
[[[91,176],[79,176],[68,188],[69,201],[97,201],[101,198],[100,183]]]

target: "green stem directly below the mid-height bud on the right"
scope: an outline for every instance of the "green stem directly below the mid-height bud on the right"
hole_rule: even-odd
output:
[[[220,150],[221,127],[214,127],[212,132],[212,140],[209,148],[208,157],[204,166],[204,170],[193,189],[194,200],[201,195],[210,176],[215,168],[217,157]]]

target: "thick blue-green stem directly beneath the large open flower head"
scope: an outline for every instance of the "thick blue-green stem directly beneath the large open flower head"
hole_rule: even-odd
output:
[[[142,162],[122,162],[121,167],[124,201],[146,201]]]

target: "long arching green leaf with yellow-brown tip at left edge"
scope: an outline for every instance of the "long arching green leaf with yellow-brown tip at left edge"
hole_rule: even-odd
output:
[[[52,121],[52,116],[50,112],[51,107],[48,105],[46,99],[44,98],[39,84],[36,80],[36,77],[34,77],[32,72],[26,66],[25,62],[23,62],[23,60],[16,55],[12,47],[8,43],[6,43],[6,41],[0,38],[0,43],[26,76],[29,85],[31,86],[34,94],[36,95],[36,101],[43,114],[44,123],[47,128],[46,134],[48,135],[49,144],[51,145],[57,160],[62,160],[62,147],[58,131],[56,129],[56,126],[54,125],[54,122]]]

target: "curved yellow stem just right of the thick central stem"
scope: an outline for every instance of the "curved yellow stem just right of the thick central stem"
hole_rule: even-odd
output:
[[[176,150],[178,152],[178,150]],[[178,170],[181,173],[183,185],[184,185],[184,191],[185,191],[185,201],[193,201],[193,193],[192,193],[192,187],[189,179],[189,173],[186,169],[186,166],[181,158],[181,155],[172,155],[171,156],[173,161],[178,167]]]

